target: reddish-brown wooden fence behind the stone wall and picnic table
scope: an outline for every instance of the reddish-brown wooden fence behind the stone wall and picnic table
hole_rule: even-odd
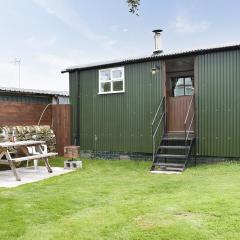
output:
[[[0,126],[37,125],[45,107],[45,104],[0,102]],[[70,124],[71,105],[69,104],[49,105],[40,122],[40,125],[52,126],[60,156],[64,153],[64,146],[70,144]]]

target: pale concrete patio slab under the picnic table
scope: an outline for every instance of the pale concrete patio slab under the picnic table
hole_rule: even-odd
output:
[[[18,168],[17,171],[21,177],[21,181],[16,181],[11,170],[0,171],[0,187],[13,188],[74,171],[61,167],[52,167],[52,170],[52,173],[48,173],[46,167],[38,167],[37,170],[32,168]]]

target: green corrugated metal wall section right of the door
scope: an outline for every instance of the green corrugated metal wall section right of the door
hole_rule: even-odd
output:
[[[240,156],[240,51],[196,57],[197,153]]]

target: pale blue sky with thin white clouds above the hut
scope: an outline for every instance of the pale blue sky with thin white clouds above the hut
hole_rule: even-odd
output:
[[[0,0],[0,86],[68,90],[61,70],[150,55],[161,28],[164,52],[240,43],[239,0]]]

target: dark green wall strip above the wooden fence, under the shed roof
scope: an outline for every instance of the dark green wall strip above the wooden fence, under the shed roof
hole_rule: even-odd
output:
[[[49,96],[38,97],[31,95],[22,95],[22,94],[7,94],[0,93],[0,101],[10,101],[10,102],[23,102],[23,103],[39,103],[39,104],[48,104],[51,103],[52,98]]]

